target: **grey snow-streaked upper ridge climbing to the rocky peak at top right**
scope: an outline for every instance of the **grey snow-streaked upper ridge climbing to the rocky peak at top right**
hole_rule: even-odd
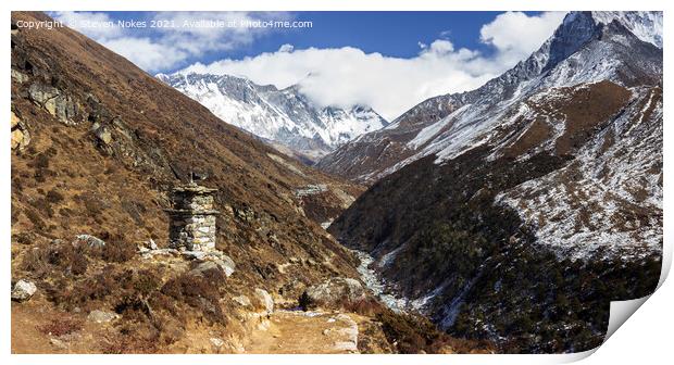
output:
[[[592,40],[590,38],[600,37],[595,27],[608,26],[617,17],[616,24],[620,25],[616,26],[625,27],[624,32],[631,37],[656,46],[656,49],[661,48],[662,15],[595,12],[592,16],[591,21],[567,17],[567,27],[560,28],[560,33],[538,51],[500,77],[476,90],[430,98],[386,128],[342,144],[316,166],[354,181],[372,184],[425,155],[451,156],[461,149],[479,143],[484,133],[503,117],[506,110],[540,90],[603,79],[652,83],[658,67],[653,68],[649,62],[642,64],[640,60],[652,59],[652,50],[646,50],[642,55],[631,53],[625,47],[628,45],[621,45],[619,34],[613,41],[595,39],[592,49],[583,47]],[[637,29],[637,35],[629,29]],[[608,54],[617,55],[617,59],[606,58]]]

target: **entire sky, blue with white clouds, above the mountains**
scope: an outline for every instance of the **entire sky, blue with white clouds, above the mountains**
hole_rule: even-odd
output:
[[[528,56],[561,23],[549,12],[52,12],[150,74],[233,74],[299,84],[321,105],[386,118],[473,89]],[[120,27],[117,21],[145,22]],[[213,27],[222,21],[236,26]],[[304,28],[241,22],[311,22]],[[151,28],[152,22],[171,25]],[[157,24],[157,23],[155,23]],[[311,76],[308,76],[311,75]]]

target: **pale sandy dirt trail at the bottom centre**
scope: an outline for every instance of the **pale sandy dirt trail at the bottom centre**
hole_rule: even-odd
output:
[[[358,353],[358,324],[346,314],[274,312],[260,323],[246,353]]]

